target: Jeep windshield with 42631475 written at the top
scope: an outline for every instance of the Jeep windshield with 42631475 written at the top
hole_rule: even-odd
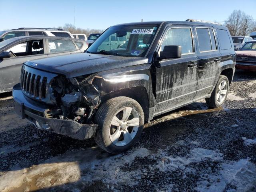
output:
[[[157,30],[156,24],[113,26],[101,34],[87,50],[91,53],[144,57]]]

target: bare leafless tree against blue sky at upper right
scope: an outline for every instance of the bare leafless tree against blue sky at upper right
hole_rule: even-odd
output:
[[[245,12],[234,10],[224,22],[224,25],[230,31],[231,36],[245,36],[254,30],[256,22],[252,16]]]

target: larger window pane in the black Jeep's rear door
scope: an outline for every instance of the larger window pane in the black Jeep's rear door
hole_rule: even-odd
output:
[[[210,51],[212,50],[210,34],[208,28],[196,28],[199,50],[202,51]]]

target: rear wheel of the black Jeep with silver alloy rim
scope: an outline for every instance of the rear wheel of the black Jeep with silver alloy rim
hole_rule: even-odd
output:
[[[206,98],[206,104],[212,108],[218,108],[222,106],[228,96],[229,81],[224,75],[220,75],[218,82],[212,91],[210,98]]]

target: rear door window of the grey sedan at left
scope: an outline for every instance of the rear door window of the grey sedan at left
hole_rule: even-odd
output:
[[[75,51],[76,46],[70,40],[63,39],[48,39],[50,53]]]

